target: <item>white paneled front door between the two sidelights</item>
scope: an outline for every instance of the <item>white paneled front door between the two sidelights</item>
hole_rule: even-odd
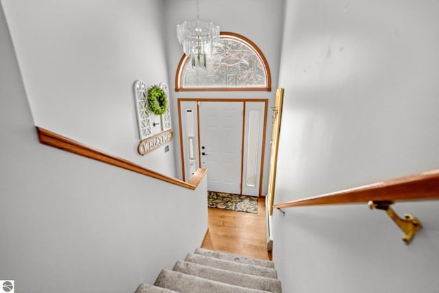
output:
[[[243,102],[200,102],[200,160],[207,188],[241,194]]]

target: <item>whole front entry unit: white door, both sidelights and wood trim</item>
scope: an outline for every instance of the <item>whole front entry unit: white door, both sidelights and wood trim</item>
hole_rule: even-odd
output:
[[[184,180],[206,167],[209,190],[259,196],[268,101],[192,99],[178,105]]]

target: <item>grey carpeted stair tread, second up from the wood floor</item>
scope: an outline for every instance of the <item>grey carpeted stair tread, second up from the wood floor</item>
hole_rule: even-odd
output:
[[[223,270],[230,270],[233,272],[242,272],[244,274],[252,274],[254,276],[268,277],[277,279],[277,271],[274,268],[266,268],[263,266],[254,266],[247,263],[237,263],[236,261],[228,261],[226,259],[218,259],[216,257],[209,257],[206,255],[198,255],[195,253],[188,253],[185,261],[199,263],[204,266],[211,266],[213,268],[221,268]]]

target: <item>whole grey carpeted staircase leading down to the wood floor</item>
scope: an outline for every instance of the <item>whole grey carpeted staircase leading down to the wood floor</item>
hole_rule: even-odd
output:
[[[173,270],[162,270],[154,285],[142,283],[135,293],[282,292],[272,261],[196,248]]]

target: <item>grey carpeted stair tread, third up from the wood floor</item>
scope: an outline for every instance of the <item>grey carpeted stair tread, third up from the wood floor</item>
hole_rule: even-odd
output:
[[[281,281],[268,277],[254,276],[252,274],[244,274],[241,272],[232,272],[220,268],[204,266],[189,261],[177,261],[174,271],[191,274],[195,277],[209,279],[230,285],[237,285],[244,288],[263,290],[268,292],[281,293]]]

